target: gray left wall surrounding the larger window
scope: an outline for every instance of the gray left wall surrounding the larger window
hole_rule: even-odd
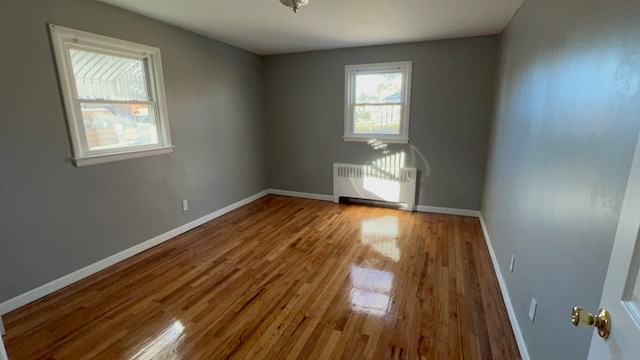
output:
[[[0,302],[267,187],[260,57],[95,1],[0,17]],[[173,154],[69,162],[47,23],[161,49]]]

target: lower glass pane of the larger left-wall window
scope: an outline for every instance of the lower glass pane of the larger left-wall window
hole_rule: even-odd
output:
[[[158,143],[152,106],[91,103],[80,106],[89,150]]]

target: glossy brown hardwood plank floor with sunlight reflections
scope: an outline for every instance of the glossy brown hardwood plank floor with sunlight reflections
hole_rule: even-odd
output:
[[[9,359],[519,359],[478,219],[266,196],[3,317]]]

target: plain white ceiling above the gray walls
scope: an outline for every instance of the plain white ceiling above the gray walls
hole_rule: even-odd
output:
[[[99,0],[260,55],[502,31],[523,0]]]

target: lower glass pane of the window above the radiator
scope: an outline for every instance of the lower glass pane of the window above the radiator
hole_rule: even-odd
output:
[[[400,134],[402,105],[356,105],[353,129],[356,134]]]

